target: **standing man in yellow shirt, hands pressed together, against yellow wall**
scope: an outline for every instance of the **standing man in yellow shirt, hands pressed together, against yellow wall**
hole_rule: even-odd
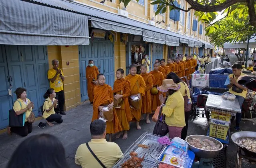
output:
[[[50,88],[55,90],[56,93],[56,100],[58,100],[58,106],[54,109],[57,114],[66,115],[64,112],[64,103],[65,103],[65,96],[64,96],[64,88],[63,88],[63,81],[64,75],[60,68],[58,68],[58,60],[52,60],[53,68],[48,70],[48,79],[50,81]]]

